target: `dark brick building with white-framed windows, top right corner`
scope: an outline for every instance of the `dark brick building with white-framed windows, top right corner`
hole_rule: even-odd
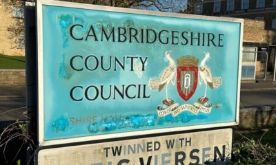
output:
[[[276,30],[276,0],[197,0],[195,14],[264,20]]]

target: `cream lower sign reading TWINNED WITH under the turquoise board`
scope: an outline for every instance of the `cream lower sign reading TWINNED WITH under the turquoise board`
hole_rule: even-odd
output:
[[[66,165],[205,164],[230,162],[232,129],[41,149],[37,162]]]

